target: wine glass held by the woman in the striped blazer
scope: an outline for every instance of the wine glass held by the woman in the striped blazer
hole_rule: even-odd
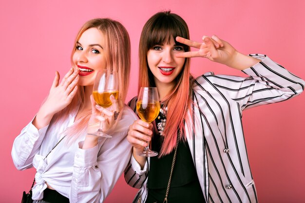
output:
[[[157,88],[141,87],[136,103],[136,111],[141,120],[147,123],[151,123],[158,116],[160,101]],[[147,142],[147,147],[138,155],[151,157],[157,156],[158,152],[152,151],[149,148],[149,142]]]

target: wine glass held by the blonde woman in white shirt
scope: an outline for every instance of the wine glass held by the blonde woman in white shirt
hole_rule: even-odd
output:
[[[98,71],[95,77],[93,87],[93,97],[95,103],[103,108],[108,108],[112,105],[110,96],[114,95],[115,99],[118,97],[118,76],[116,71],[101,70]],[[102,116],[104,114],[102,113]],[[111,138],[111,135],[103,132],[103,125],[100,122],[99,129],[96,132],[89,133],[91,135],[97,135],[101,137]]]

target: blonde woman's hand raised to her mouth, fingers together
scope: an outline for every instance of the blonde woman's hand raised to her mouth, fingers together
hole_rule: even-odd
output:
[[[76,95],[78,70],[71,68],[60,84],[59,78],[56,72],[49,95],[32,122],[37,129],[47,126],[53,115],[67,107]]]

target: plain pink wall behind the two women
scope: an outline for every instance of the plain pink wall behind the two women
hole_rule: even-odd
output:
[[[34,169],[18,171],[11,148],[20,130],[46,97],[55,71],[70,68],[76,32],[91,18],[121,21],[132,42],[132,80],[128,99],[137,89],[137,47],[145,21],[171,9],[188,23],[191,38],[216,34],[242,53],[266,54],[305,78],[305,1],[279,0],[11,0],[0,2],[0,197],[20,202]],[[205,59],[192,59],[195,75],[238,74]],[[305,201],[305,95],[245,111],[248,155],[260,203]],[[123,178],[106,203],[130,203],[136,190]]]

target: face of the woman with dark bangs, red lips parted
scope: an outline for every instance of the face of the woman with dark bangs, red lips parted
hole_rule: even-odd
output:
[[[181,52],[184,52],[184,48],[176,45],[172,37],[169,43],[155,45],[149,49],[147,63],[156,87],[172,89],[175,86],[175,79],[183,69],[185,62],[185,58],[175,57],[177,53]]]

